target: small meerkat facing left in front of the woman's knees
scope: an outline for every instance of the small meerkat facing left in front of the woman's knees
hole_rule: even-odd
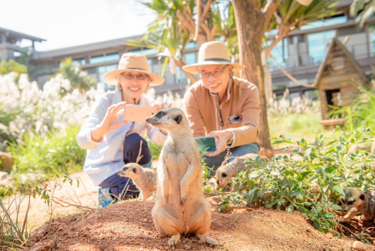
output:
[[[139,199],[142,201],[147,200],[152,192],[156,192],[156,175],[152,168],[144,168],[137,163],[127,163],[117,174],[133,180],[135,186],[141,191]]]

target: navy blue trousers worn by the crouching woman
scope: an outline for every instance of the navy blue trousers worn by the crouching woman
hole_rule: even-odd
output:
[[[150,162],[151,153],[150,153],[150,149],[148,149],[147,142],[145,141],[145,139],[139,136],[138,133],[132,133],[128,135],[124,141],[124,163],[125,164],[136,162],[136,159],[139,153],[139,145],[140,145],[141,140],[143,141],[142,150],[141,150],[141,155],[143,155],[143,157],[141,158],[141,160],[139,160],[138,164],[144,165]],[[121,177],[120,175],[116,173],[106,178],[101,184],[99,184],[99,186],[110,187],[110,193],[116,196],[119,196],[121,192],[123,191],[128,179],[130,178]],[[133,184],[132,179],[129,180],[128,185],[129,185],[129,189],[126,192],[126,194],[123,195],[123,199],[128,199],[131,197],[133,198],[138,197],[139,191]]]

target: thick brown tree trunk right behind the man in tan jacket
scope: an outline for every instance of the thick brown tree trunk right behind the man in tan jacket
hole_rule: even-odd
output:
[[[267,119],[267,103],[264,90],[264,71],[261,62],[262,38],[268,22],[254,0],[233,0],[239,42],[240,64],[246,65],[241,77],[258,86],[260,93],[260,126],[258,138],[260,154],[272,158],[270,133]]]

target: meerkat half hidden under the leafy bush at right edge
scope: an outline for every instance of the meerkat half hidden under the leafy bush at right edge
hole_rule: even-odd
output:
[[[345,187],[344,192],[345,197],[342,196],[340,201],[343,205],[342,209],[347,214],[340,219],[340,222],[346,222],[353,217],[360,221],[367,221],[375,217],[375,190],[363,192],[356,187]],[[357,217],[357,213],[362,213],[362,215]]]

